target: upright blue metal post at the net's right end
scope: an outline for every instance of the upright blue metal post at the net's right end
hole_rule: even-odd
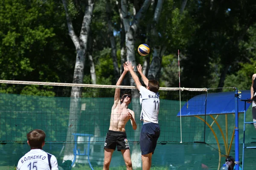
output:
[[[236,88],[235,91],[235,119],[236,119],[236,127],[235,127],[235,167],[236,170],[239,170],[239,128],[238,128],[238,90]]]

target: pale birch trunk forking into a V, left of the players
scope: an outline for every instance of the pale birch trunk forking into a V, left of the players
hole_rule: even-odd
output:
[[[88,33],[90,32],[90,24],[92,21],[93,15],[93,0],[88,0],[88,4],[85,7],[84,17],[82,21],[81,31],[79,37],[76,35],[72,19],[70,17],[68,8],[67,8],[67,0],[62,0],[66,19],[67,19],[67,28],[70,35],[71,40],[76,48],[76,64],[74,69],[73,83],[83,83],[84,78],[84,64],[85,64],[85,54],[87,51],[87,40]],[[70,96],[70,116],[69,116],[69,125],[67,130],[66,137],[66,146],[64,152],[63,160],[73,160],[73,142],[74,136],[73,133],[77,131],[77,124],[79,121],[79,113],[81,110],[81,88],[72,87],[71,96]]]

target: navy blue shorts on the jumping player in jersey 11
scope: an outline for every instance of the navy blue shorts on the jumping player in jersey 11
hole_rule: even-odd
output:
[[[157,139],[160,136],[160,126],[157,123],[145,123],[140,132],[140,150],[141,155],[154,153],[157,147]]]

